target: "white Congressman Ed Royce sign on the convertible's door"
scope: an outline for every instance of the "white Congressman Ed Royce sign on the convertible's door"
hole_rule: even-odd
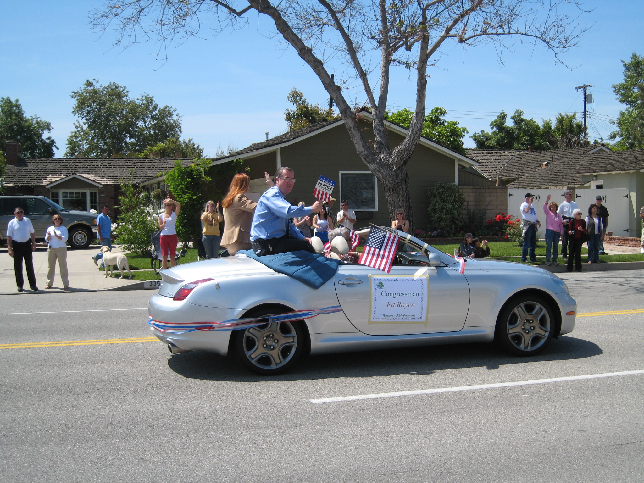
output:
[[[427,325],[430,278],[370,275],[369,323],[423,323]]]

